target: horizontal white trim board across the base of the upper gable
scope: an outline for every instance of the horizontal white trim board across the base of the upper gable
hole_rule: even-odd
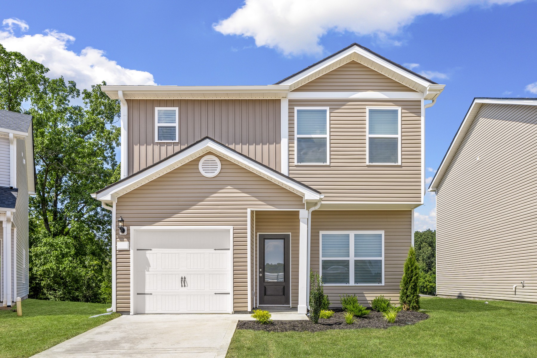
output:
[[[289,92],[289,99],[423,99],[422,92]]]

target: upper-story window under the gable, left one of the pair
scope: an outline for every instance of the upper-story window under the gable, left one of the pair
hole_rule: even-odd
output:
[[[329,108],[295,107],[295,164],[329,164]]]

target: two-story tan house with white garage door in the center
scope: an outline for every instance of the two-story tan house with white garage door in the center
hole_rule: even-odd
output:
[[[92,194],[114,311],[306,312],[310,269],[332,304],[398,301],[444,85],[353,44],[274,85],[101,89],[121,101],[122,179]]]

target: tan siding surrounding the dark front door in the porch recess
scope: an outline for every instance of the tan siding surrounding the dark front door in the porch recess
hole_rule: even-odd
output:
[[[291,232],[291,306],[298,306],[299,302],[299,237],[300,237],[300,220],[299,211],[256,211],[256,261],[259,260],[259,247],[257,244],[258,233],[270,232]],[[257,275],[257,265],[254,271]],[[257,285],[256,298],[257,298]]]

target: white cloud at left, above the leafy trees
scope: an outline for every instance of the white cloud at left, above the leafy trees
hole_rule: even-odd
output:
[[[0,43],[9,51],[17,51],[28,59],[40,62],[50,69],[49,77],[63,76],[75,81],[78,88],[106,81],[108,84],[153,85],[153,75],[146,71],[131,70],[108,59],[103,50],[84,48],[80,53],[68,49],[75,38],[66,33],[46,30],[43,34],[14,34],[16,26],[27,31],[28,25],[19,19],[3,21],[5,30],[0,31]]]

